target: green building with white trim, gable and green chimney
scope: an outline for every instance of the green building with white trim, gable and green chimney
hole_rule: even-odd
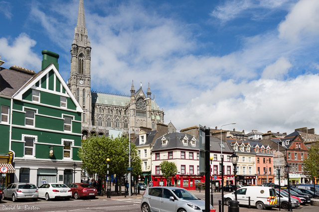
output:
[[[0,158],[7,156],[11,167],[5,185],[81,181],[83,110],[58,71],[59,55],[47,50],[42,55],[37,73],[0,67]]]

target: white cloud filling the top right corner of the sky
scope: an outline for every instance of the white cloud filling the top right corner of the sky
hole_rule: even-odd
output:
[[[279,25],[279,37],[291,42],[318,39],[319,1],[300,0]]]

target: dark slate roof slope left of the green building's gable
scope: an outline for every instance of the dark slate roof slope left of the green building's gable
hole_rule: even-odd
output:
[[[32,77],[34,72],[0,68],[0,94],[11,97]]]

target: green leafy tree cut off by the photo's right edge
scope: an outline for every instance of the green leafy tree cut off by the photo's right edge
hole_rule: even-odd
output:
[[[310,177],[319,177],[319,142],[317,141],[308,150],[308,157],[304,160],[305,174]]]

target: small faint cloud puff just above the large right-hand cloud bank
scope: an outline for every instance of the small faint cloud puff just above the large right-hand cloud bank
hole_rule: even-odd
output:
[[[291,67],[291,63],[286,58],[279,58],[274,64],[264,69],[262,78],[283,79]]]

